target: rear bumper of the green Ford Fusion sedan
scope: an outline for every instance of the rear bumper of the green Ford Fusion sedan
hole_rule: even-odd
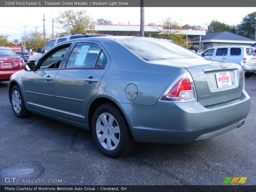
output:
[[[137,142],[190,143],[228,132],[243,124],[250,111],[250,97],[205,108],[197,101],[157,102],[154,106],[117,103]]]

